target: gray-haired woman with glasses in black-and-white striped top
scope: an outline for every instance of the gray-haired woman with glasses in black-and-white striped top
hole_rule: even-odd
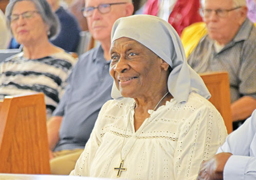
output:
[[[6,16],[23,52],[0,64],[0,98],[42,92],[50,117],[75,59],[49,42],[58,33],[58,20],[46,0],[11,0]]]

